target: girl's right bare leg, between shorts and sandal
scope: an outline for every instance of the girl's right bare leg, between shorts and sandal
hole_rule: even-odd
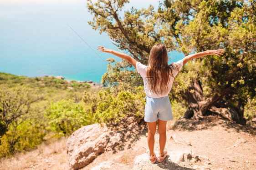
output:
[[[164,147],[166,143],[166,124],[167,121],[158,120],[160,154],[164,153]]]

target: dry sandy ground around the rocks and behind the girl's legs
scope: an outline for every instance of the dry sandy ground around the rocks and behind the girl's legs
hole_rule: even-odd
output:
[[[176,142],[171,138],[173,135],[176,136]],[[190,145],[186,145],[181,138]],[[51,142],[49,145],[42,144],[37,150],[1,159],[0,170],[67,170],[66,140]],[[256,170],[256,129],[229,120],[216,119],[214,116],[200,121],[169,121],[166,148],[169,152],[192,150],[193,153],[209,159],[195,163],[182,162],[175,165],[175,170]],[[147,149],[145,127],[135,139],[127,141],[122,150],[104,152],[82,170],[90,170],[107,160],[124,164],[125,170],[133,169],[135,156],[145,153]],[[155,151],[159,151],[158,133],[155,135]],[[171,166],[167,166],[167,163]],[[170,170],[174,167],[172,164],[174,163],[165,161],[159,163],[157,169]]]

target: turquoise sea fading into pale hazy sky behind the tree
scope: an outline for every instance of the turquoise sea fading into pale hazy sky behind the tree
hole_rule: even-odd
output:
[[[0,72],[100,82],[107,70],[106,59],[118,57],[96,50],[98,45],[116,47],[106,33],[100,35],[88,24],[92,15],[86,4],[87,0],[1,0]],[[157,7],[159,3],[130,0],[126,9],[149,4]],[[174,51],[170,57],[171,63],[184,55]]]

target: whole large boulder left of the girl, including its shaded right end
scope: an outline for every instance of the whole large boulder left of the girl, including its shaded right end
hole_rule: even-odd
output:
[[[143,127],[143,123],[139,124],[134,117],[128,117],[115,130],[106,125],[92,124],[74,131],[67,139],[69,169],[78,170],[105,151],[122,149],[123,143],[135,139]]]

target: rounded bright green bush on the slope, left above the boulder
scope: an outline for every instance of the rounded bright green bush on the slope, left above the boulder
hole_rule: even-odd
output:
[[[74,103],[72,100],[61,100],[51,103],[46,109],[48,130],[55,132],[56,137],[70,135],[78,128],[94,123],[92,114],[88,114],[82,103]]]

